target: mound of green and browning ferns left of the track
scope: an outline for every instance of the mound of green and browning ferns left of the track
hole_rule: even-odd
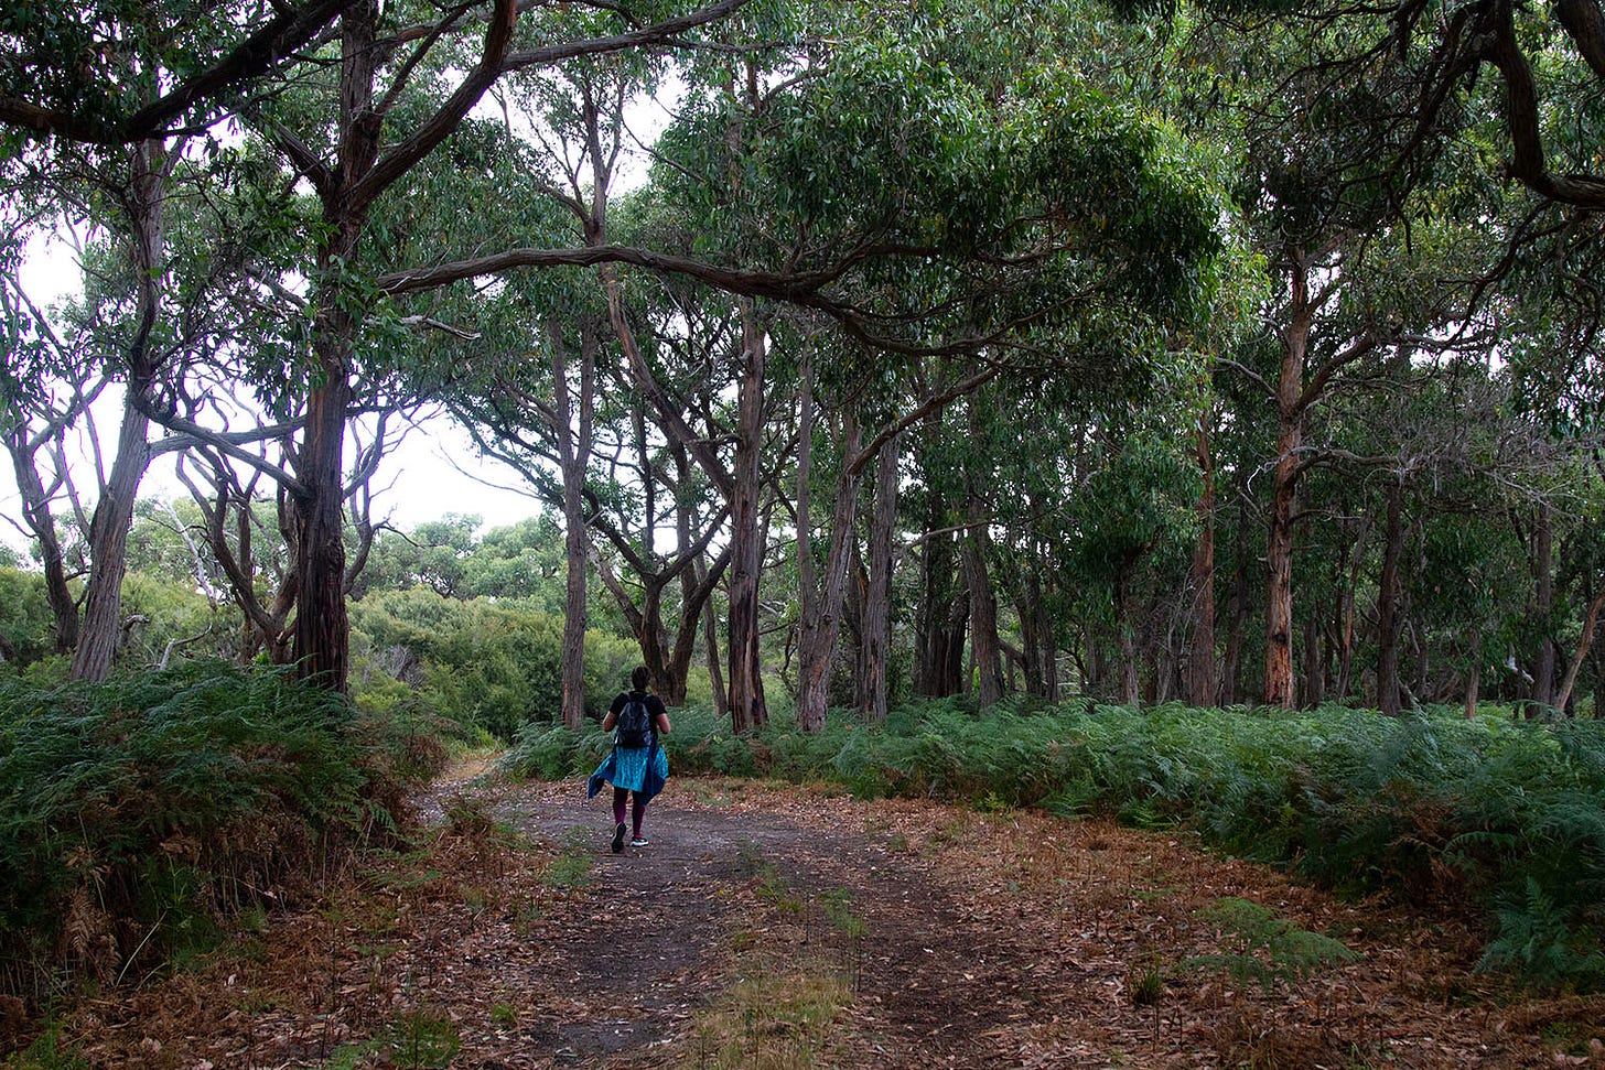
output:
[[[183,958],[395,829],[443,752],[286,671],[189,663],[0,683],[0,988],[40,996]]]

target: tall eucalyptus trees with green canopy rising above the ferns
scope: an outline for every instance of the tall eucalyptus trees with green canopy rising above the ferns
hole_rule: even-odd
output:
[[[539,605],[571,727],[597,624],[738,730],[777,687],[817,728],[1605,679],[1594,0],[85,0],[0,37],[26,658],[132,656],[132,571],[337,690],[353,600]],[[22,239],[63,228],[42,308]],[[376,512],[437,411],[526,526]],[[165,454],[191,501],[136,507]]]

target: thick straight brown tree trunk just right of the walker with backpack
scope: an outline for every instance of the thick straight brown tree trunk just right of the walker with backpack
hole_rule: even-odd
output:
[[[758,584],[764,563],[762,433],[764,332],[750,300],[742,300],[742,382],[737,391],[735,470],[730,492],[730,723],[748,732],[769,723],[759,656]]]

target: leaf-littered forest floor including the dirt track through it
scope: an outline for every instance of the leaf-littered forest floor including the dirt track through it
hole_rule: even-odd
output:
[[[1507,988],[1456,922],[1180,833],[677,778],[615,855],[605,797],[475,772],[419,800],[416,852],[61,1043],[181,1070],[1605,1067],[1605,998]],[[1286,924],[1223,921],[1236,898]]]

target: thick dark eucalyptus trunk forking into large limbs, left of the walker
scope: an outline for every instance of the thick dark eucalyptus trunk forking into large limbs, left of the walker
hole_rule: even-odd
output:
[[[485,91],[509,71],[531,69],[562,58],[607,53],[669,39],[700,21],[719,18],[725,3],[690,19],[647,30],[567,35],[562,26],[526,21],[530,47],[517,40],[518,5],[498,0],[485,19],[475,51],[441,58],[437,47],[454,43],[467,26],[465,11],[446,13],[408,5],[380,10],[376,0],[345,5],[340,35],[324,72],[305,79],[324,93],[323,107],[284,107],[292,95],[254,106],[246,119],[278,146],[297,175],[311,184],[321,205],[313,231],[308,276],[308,367],[302,438],[292,454],[297,468],[295,545],[300,555],[297,661],[310,677],[343,688],[347,677],[345,550],[342,448],[351,391],[351,358],[374,306],[376,290],[361,270],[363,237],[372,210],[401,178],[424,162],[461,125]],[[424,22],[411,22],[422,16]],[[547,39],[546,32],[562,37]],[[475,55],[477,53],[477,55]],[[454,66],[461,63],[462,66]],[[430,66],[433,64],[433,66]],[[414,79],[433,80],[437,103],[416,107]],[[398,107],[398,104],[404,104]]]

